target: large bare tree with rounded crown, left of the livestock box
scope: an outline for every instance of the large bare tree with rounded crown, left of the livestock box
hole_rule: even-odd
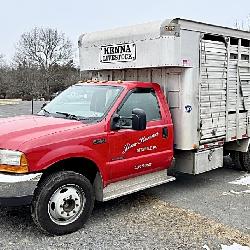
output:
[[[34,28],[21,36],[14,61],[17,70],[22,72],[17,74],[18,78],[30,81],[31,94],[37,96],[39,92],[49,98],[54,89],[60,89],[57,86],[60,83],[56,81],[58,68],[73,67],[73,46],[65,34],[57,29]],[[25,89],[30,89],[27,83]]]

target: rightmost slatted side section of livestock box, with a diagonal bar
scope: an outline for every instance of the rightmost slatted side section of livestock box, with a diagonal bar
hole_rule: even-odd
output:
[[[228,44],[228,130],[227,141],[242,139],[248,135],[248,110],[250,108],[249,69],[240,67],[249,62],[250,48],[242,39],[230,38]]]

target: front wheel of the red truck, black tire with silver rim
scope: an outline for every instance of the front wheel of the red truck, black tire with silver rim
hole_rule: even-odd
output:
[[[69,194],[73,194],[73,198]],[[67,198],[63,198],[64,196]],[[63,235],[82,228],[93,207],[94,192],[90,181],[73,171],[60,171],[49,175],[39,184],[33,197],[31,214],[35,224],[43,232]],[[71,220],[60,218],[69,214],[72,216]]]

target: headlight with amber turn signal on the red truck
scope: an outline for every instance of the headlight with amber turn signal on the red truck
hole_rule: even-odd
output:
[[[0,150],[0,171],[26,173],[28,161],[22,152]]]

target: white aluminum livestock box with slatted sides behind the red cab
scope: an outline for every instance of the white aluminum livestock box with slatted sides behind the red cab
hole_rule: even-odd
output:
[[[250,32],[175,18],[83,34],[79,53],[82,78],[161,85],[191,172],[207,171],[194,170],[206,150],[209,160],[216,149],[211,169],[223,147],[248,150]]]

